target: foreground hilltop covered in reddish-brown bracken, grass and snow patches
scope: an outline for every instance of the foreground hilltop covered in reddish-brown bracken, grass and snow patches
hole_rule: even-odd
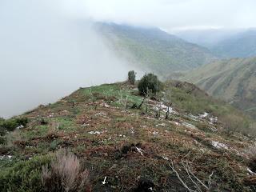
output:
[[[165,119],[167,90],[173,106]],[[185,192],[182,181],[198,191],[253,191],[243,151],[254,141],[227,134],[215,115],[246,117],[190,83],[167,82],[162,94],[136,109],[143,98],[135,86],[94,86],[23,114],[29,123],[1,137],[0,189],[42,191],[42,166],[62,148],[90,172],[85,191]]]

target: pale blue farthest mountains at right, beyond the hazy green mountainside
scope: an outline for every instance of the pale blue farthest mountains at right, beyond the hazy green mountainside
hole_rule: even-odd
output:
[[[256,56],[256,29],[249,30],[186,30],[179,38],[206,46],[218,58]]]

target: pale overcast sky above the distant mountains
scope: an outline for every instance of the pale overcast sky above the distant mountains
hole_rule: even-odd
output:
[[[255,27],[255,0],[84,0],[96,20],[166,30]]]

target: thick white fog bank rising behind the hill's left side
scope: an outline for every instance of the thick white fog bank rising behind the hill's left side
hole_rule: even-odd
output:
[[[70,1],[0,2],[0,117],[126,78],[128,64],[103,44],[86,14],[73,14],[82,12],[79,1]]]

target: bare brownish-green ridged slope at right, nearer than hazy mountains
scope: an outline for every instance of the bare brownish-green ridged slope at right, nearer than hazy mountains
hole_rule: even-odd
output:
[[[256,117],[256,58],[213,62],[181,78]]]

